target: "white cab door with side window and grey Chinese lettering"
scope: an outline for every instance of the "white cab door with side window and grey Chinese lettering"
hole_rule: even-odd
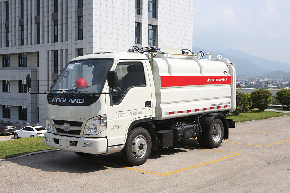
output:
[[[150,119],[153,112],[145,61],[117,61],[115,71],[118,87],[106,95],[108,146],[124,144],[130,124],[135,120]]]

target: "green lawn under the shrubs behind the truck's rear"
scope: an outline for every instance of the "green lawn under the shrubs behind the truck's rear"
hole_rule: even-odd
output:
[[[247,113],[241,113],[241,115],[227,115],[227,119],[233,119],[236,123],[238,122],[244,122],[244,121],[252,121],[252,120],[258,120],[258,119],[267,119],[271,117],[279,117],[282,115],[289,115],[289,113],[280,113],[280,112],[274,112],[274,111],[264,111],[264,112],[258,112],[255,110],[250,110]]]

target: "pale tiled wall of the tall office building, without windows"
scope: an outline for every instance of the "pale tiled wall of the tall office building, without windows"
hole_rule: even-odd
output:
[[[82,49],[83,55],[116,50],[126,52],[135,44],[135,22],[141,23],[140,47],[148,46],[148,25],[155,25],[156,46],[191,49],[193,0],[156,0],[156,18],[148,17],[148,0],[140,0],[140,15],[135,14],[135,0],[83,1],[58,0],[57,14],[53,0],[8,0],[9,21],[6,22],[6,1],[0,0],[0,119],[45,124],[46,95],[18,93],[18,80],[32,78],[31,92],[47,92],[57,74]],[[78,17],[83,17],[83,39],[78,40]],[[54,23],[57,20],[58,42],[54,42]],[[37,44],[37,23],[40,24],[40,43]],[[6,27],[9,46],[6,46]],[[21,25],[24,45],[21,45]],[[54,51],[58,51],[57,73],[54,73]],[[27,67],[19,67],[19,53],[27,53]],[[10,67],[3,67],[3,54],[10,54]],[[39,62],[38,62],[39,61]],[[10,93],[3,93],[2,80],[11,80]],[[3,118],[3,105],[11,106],[11,118]],[[19,106],[27,107],[27,120],[19,120]],[[38,122],[39,108],[39,122]]]

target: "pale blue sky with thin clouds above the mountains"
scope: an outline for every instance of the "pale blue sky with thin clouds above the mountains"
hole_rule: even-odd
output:
[[[193,47],[290,64],[290,1],[193,0]]]

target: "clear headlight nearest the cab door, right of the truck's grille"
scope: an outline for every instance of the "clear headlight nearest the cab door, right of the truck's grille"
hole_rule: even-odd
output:
[[[86,122],[84,134],[97,135],[106,128],[107,128],[106,115],[100,115]]]

